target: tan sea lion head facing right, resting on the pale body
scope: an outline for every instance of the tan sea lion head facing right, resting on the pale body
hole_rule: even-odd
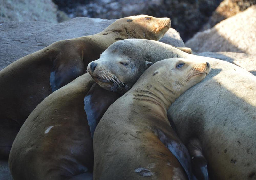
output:
[[[169,58],[149,67],[136,84],[153,83],[162,93],[172,94],[170,101],[174,101],[183,92],[202,81],[210,70],[211,66],[206,61]]]

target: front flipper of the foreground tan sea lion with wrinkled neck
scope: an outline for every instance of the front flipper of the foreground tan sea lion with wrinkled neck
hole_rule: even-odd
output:
[[[176,138],[168,138],[164,132],[159,129],[155,130],[155,134],[159,140],[171,151],[171,153],[178,159],[184,171],[186,172],[189,180],[196,180],[192,175],[191,171],[191,162],[190,156],[186,146],[179,140],[176,133],[172,130],[172,133],[175,134]]]

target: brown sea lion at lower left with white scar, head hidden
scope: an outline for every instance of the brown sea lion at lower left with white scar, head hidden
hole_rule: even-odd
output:
[[[84,97],[93,83],[88,73],[76,78],[46,97],[28,116],[9,156],[14,180],[92,179],[93,148]],[[92,88],[96,88],[94,94]],[[115,92],[105,95],[107,90],[97,89],[97,84],[92,88],[86,98],[87,106],[92,103],[91,122],[99,121],[120,97]],[[101,109],[95,113],[93,104],[96,103]]]

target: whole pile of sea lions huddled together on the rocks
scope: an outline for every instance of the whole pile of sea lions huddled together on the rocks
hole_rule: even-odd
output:
[[[256,179],[256,77],[156,41],[170,25],[121,18],[1,70],[13,179]]]

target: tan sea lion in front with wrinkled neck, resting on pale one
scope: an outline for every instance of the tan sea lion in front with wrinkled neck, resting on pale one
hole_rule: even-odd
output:
[[[188,151],[172,130],[167,109],[209,71],[205,61],[181,58],[149,67],[96,127],[94,180],[193,179]]]

